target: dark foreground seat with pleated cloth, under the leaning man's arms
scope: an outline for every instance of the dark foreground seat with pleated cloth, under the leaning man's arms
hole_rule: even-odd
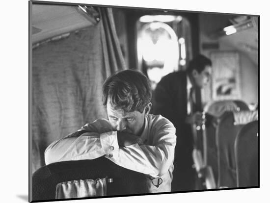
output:
[[[32,177],[33,201],[148,192],[144,174],[125,169],[105,157],[63,161],[38,169]]]

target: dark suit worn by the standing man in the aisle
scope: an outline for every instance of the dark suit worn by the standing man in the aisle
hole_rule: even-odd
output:
[[[200,89],[195,88],[193,112],[201,111]],[[185,123],[187,113],[187,73],[178,71],[164,76],[153,93],[153,113],[169,119],[176,128],[176,146],[172,191],[199,189],[196,172],[192,168],[193,136],[191,126]]]

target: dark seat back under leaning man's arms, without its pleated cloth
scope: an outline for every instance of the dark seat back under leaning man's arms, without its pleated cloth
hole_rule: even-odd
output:
[[[74,180],[112,178],[107,183],[107,196],[148,192],[144,174],[125,169],[105,157],[93,160],[64,161],[38,169],[32,178],[33,201],[54,200],[58,183]]]

